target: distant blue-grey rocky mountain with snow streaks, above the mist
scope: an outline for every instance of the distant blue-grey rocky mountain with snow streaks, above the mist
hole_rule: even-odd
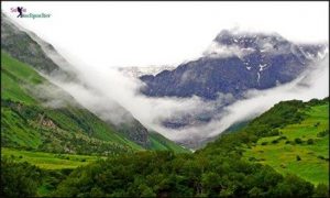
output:
[[[222,31],[204,56],[174,70],[141,76],[151,97],[219,94],[242,98],[249,89],[267,89],[295,79],[328,54],[324,44],[295,44],[278,34]]]

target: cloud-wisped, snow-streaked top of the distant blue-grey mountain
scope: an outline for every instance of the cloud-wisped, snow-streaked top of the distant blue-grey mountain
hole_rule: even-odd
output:
[[[205,57],[209,58],[227,58],[230,56],[237,56],[244,61],[246,69],[250,70],[249,59],[251,56],[271,57],[280,54],[293,54],[301,64],[305,64],[305,59],[322,59],[328,54],[327,44],[295,44],[280,34],[261,33],[261,32],[246,32],[239,30],[222,30],[209,47],[204,52]],[[260,62],[257,65],[263,65]],[[261,68],[262,69],[262,68]]]

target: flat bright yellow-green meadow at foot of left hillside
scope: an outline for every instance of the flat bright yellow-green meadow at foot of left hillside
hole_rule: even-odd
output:
[[[18,162],[29,162],[44,169],[64,169],[76,168],[95,162],[99,156],[54,154],[45,152],[20,151],[14,148],[1,148],[1,158],[3,156],[13,157]],[[105,157],[102,157],[105,158]]]

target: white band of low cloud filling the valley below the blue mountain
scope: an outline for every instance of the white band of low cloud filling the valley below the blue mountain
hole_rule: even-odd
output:
[[[56,56],[52,55],[52,58],[56,59]],[[62,59],[57,62],[61,63]],[[70,82],[63,80],[61,76],[47,76],[47,78],[105,121],[120,124],[132,121],[134,117],[148,130],[176,142],[196,146],[220,134],[233,123],[261,114],[279,101],[290,99],[307,101],[329,96],[328,65],[329,55],[321,63],[310,66],[309,70],[294,81],[267,90],[250,90],[245,92],[245,99],[224,107],[211,122],[183,129],[168,129],[162,122],[187,113],[212,111],[232,97],[219,94],[218,100],[213,101],[205,101],[196,96],[150,98],[139,91],[144,86],[142,81],[107,66],[70,65],[74,68],[69,70],[75,72],[79,79]]]

